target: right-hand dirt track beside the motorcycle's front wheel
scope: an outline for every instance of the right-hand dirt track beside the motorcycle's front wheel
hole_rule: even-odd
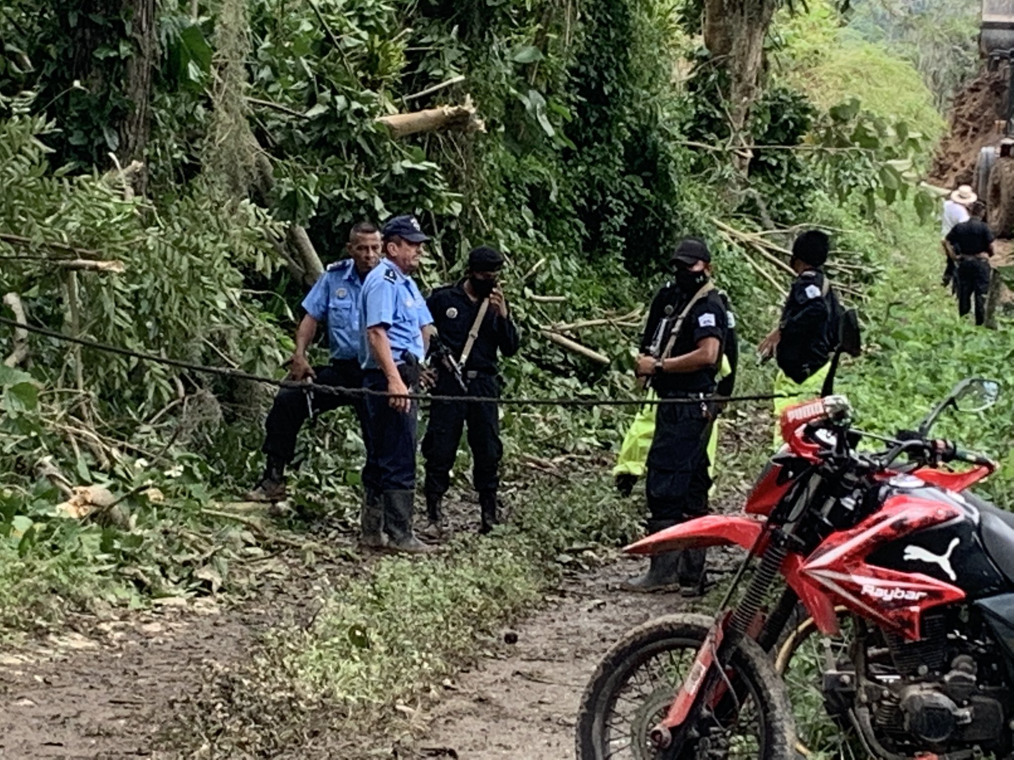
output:
[[[712,550],[719,567],[733,553]],[[599,659],[630,628],[651,617],[700,607],[676,594],[641,596],[620,584],[643,568],[621,559],[571,578],[546,608],[463,671],[426,716],[428,738],[416,757],[461,760],[573,760],[574,726],[584,687]]]

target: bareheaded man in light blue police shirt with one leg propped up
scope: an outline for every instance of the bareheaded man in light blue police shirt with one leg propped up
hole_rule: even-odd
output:
[[[283,388],[275,397],[265,424],[267,435],[263,451],[268,461],[260,483],[247,493],[250,501],[280,502],[285,499],[285,468],[295,455],[296,438],[311,408],[316,414],[348,405],[355,408],[359,417],[367,451],[363,469],[365,504],[379,501],[376,464],[369,456],[371,444],[365,399],[362,396],[313,392],[314,383],[343,388],[359,388],[363,384],[359,363],[362,333],[359,307],[366,276],[380,258],[379,230],[369,222],[357,224],[349,233],[347,250],[350,257],[328,267],[303,300],[306,315],[296,331],[296,349],[290,360],[289,379],[306,381],[306,390]],[[331,362],[322,367],[311,367],[306,352],[319,324],[328,326]]]

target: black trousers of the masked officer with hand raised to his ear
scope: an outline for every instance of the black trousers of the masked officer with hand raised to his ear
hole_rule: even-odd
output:
[[[441,373],[434,388],[440,396],[464,396],[453,378]],[[468,395],[500,397],[500,381],[495,375],[476,375],[468,380]],[[450,470],[454,466],[461,432],[468,428],[468,448],[472,449],[472,482],[480,493],[496,491],[500,485],[500,460],[504,449],[500,441],[499,407],[493,402],[433,401],[430,420],[423,437],[423,457],[426,459],[426,495],[443,496],[450,486]]]

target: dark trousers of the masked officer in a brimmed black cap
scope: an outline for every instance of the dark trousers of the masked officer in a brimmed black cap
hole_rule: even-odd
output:
[[[661,404],[655,437],[648,452],[645,483],[648,510],[654,521],[682,522],[708,514],[708,439],[715,404]]]

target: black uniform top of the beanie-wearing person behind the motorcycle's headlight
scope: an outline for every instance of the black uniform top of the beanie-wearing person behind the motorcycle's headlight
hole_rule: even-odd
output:
[[[782,309],[776,358],[794,383],[820,370],[838,348],[842,305],[820,270],[806,270],[796,278]]]

